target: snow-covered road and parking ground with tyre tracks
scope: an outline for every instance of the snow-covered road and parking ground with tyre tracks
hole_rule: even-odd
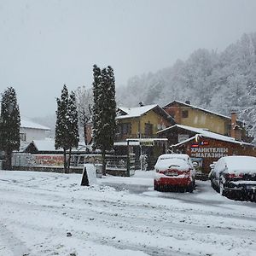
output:
[[[80,182],[0,171],[0,255],[256,255],[256,204],[208,182],[193,194],[154,191],[153,172]]]

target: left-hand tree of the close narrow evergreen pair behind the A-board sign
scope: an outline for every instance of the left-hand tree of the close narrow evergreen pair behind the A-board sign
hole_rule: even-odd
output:
[[[64,173],[67,173],[67,149],[69,148],[69,133],[67,125],[68,90],[64,84],[61,98],[57,98],[55,149],[63,148]]]

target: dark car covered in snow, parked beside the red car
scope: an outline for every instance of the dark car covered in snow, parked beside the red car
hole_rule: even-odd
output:
[[[256,157],[224,156],[209,173],[212,188],[234,199],[256,199]]]

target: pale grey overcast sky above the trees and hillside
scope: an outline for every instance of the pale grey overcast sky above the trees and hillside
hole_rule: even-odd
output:
[[[90,86],[93,64],[111,65],[121,86],[256,32],[255,10],[254,0],[0,0],[0,92],[15,88],[21,115],[54,114],[63,84]]]

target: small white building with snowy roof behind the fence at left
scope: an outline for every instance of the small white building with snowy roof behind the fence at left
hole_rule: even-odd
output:
[[[20,118],[20,141],[32,142],[33,140],[44,140],[48,137],[49,127],[39,125],[30,119]]]

